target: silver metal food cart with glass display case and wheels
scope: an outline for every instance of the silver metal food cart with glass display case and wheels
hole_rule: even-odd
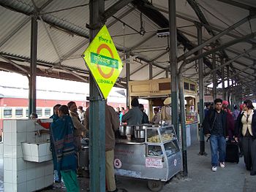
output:
[[[181,151],[174,128],[148,124],[133,129],[131,140],[116,139],[116,175],[146,179],[151,191],[160,191],[164,182],[181,171]]]

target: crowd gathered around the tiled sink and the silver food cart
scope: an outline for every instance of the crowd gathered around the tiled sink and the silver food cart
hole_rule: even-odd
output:
[[[164,107],[154,107],[154,117],[148,120],[148,115],[143,104],[139,104],[137,98],[131,101],[132,108],[124,110],[118,107],[116,111],[105,104],[105,169],[106,186],[108,191],[118,191],[114,177],[113,158],[115,147],[115,131],[121,125],[140,125],[142,123],[159,124],[160,120],[170,121],[170,98],[165,99]],[[69,101],[67,105],[56,104],[53,107],[53,115],[50,118],[53,122],[50,125],[42,126],[48,129],[41,129],[37,134],[50,134],[50,150],[53,155],[53,180],[54,186],[62,187],[62,181],[67,191],[79,191],[77,177],[82,176],[79,165],[79,153],[82,149],[81,139],[89,135],[89,112],[90,107],[83,110],[83,107]],[[31,113],[31,119],[37,119],[36,113]]]

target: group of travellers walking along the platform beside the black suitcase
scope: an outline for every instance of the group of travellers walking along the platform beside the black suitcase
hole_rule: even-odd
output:
[[[246,169],[256,175],[256,110],[251,100],[245,100],[239,108],[235,106],[231,112],[229,102],[222,99],[215,99],[214,107],[206,106],[203,133],[210,140],[211,170],[225,167],[227,142],[231,142],[238,143]]]

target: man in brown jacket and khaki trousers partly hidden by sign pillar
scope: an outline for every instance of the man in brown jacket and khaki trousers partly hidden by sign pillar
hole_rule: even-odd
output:
[[[90,107],[89,107],[90,108]],[[89,111],[86,110],[86,126],[89,128]],[[105,104],[105,164],[106,184],[109,192],[116,192],[116,180],[114,172],[114,148],[116,144],[115,131],[119,127],[119,118],[113,107]],[[96,138],[97,139],[97,138]]]

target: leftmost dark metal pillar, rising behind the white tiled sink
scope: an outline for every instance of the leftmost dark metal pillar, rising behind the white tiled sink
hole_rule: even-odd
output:
[[[29,115],[37,112],[37,16],[31,17],[31,52],[29,77]]]

